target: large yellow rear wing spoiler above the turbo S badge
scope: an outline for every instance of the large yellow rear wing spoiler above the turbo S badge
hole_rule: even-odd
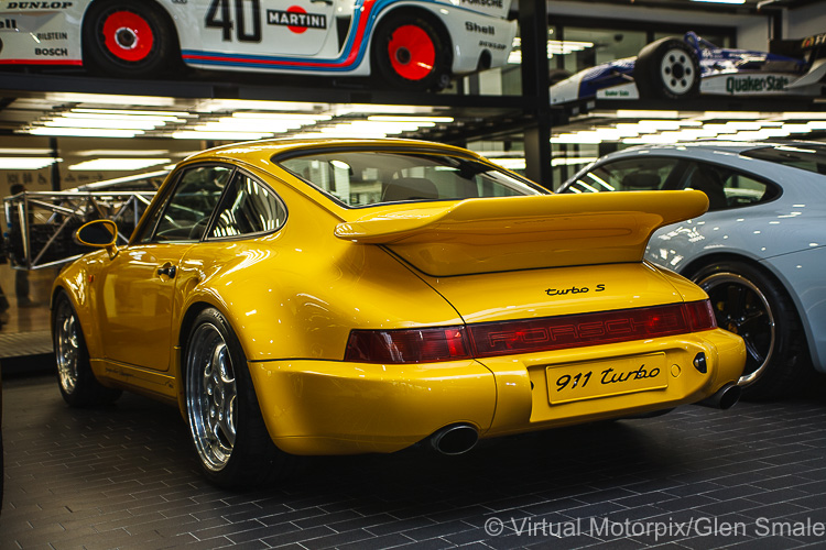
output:
[[[702,191],[624,191],[416,202],[340,223],[433,276],[641,262],[659,228],[700,216]]]

